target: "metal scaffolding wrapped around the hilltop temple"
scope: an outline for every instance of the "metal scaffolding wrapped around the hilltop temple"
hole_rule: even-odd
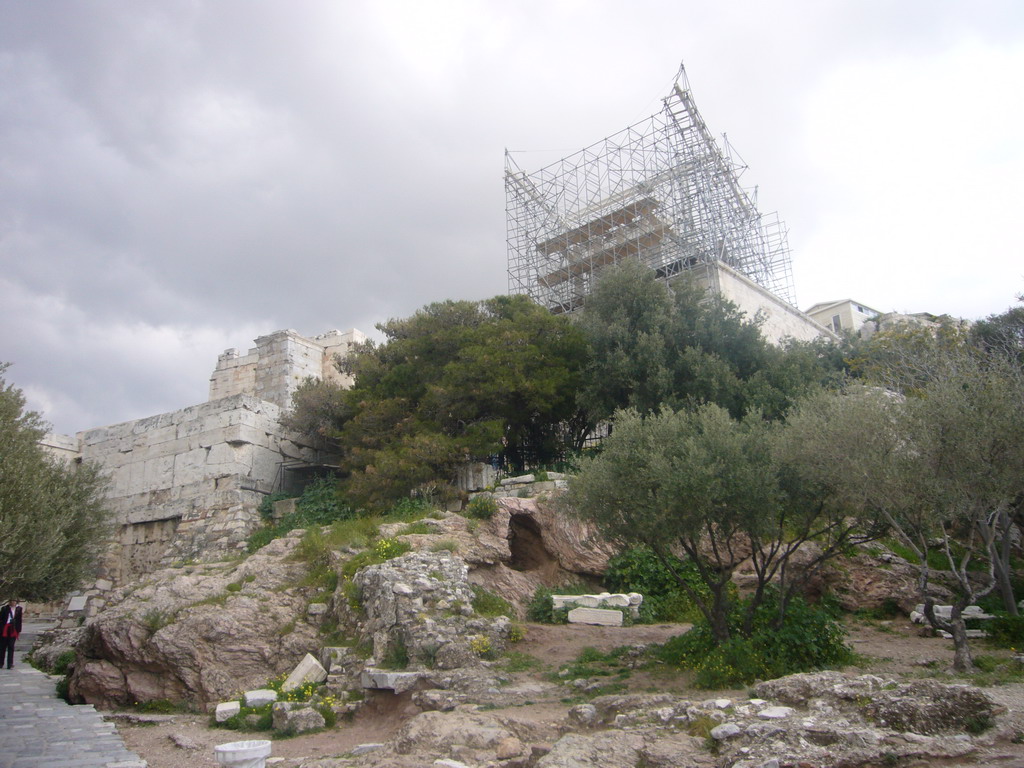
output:
[[[671,279],[724,263],[796,304],[786,230],[739,184],[685,71],[650,118],[532,173],[505,153],[509,293],[555,312],[583,305],[600,270],[638,259]]]

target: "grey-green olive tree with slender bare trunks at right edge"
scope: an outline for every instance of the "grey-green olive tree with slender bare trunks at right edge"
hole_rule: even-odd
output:
[[[915,372],[905,395],[858,388],[810,397],[786,429],[805,482],[840,508],[880,515],[914,553],[925,613],[952,634],[954,667],[966,671],[973,658],[964,608],[998,587],[1016,611],[1009,535],[1024,496],[1024,384],[1006,360],[967,354],[947,362],[941,376],[904,369]],[[956,585],[949,621],[929,596],[935,549]]]

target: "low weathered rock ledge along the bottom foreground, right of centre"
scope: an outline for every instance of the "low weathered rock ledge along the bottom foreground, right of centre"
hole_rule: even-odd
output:
[[[600,696],[552,724],[462,706],[414,717],[389,742],[345,765],[927,765],[972,757],[983,741],[971,734],[997,714],[972,686],[841,673],[794,675],[762,683],[757,693],[763,697]],[[313,765],[325,764],[303,768]]]

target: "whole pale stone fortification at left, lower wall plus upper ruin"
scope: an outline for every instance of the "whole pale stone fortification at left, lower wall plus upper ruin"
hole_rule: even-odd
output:
[[[71,435],[44,446],[69,461],[98,465],[110,481],[117,522],[103,563],[119,584],[176,560],[237,551],[259,524],[263,498],[331,466],[281,423],[307,378],[350,382],[335,365],[359,331],[310,338],[278,331],[245,355],[228,349],[210,377],[210,399],[146,419]]]

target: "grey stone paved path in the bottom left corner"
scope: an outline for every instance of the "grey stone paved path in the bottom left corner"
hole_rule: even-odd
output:
[[[0,768],[146,768],[92,706],[57,698],[56,678],[24,660],[46,627],[27,622],[14,669],[0,669]]]

